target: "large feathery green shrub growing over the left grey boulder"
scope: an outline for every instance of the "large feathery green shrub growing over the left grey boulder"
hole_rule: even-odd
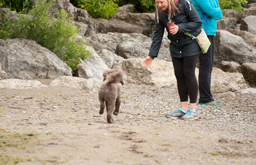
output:
[[[88,58],[87,45],[76,42],[79,29],[63,10],[49,13],[55,0],[38,0],[27,15],[26,9],[18,13],[18,18],[11,18],[11,14],[4,15],[0,21],[0,39],[26,38],[35,40],[38,44],[54,52],[72,69],[74,73],[77,65]],[[26,5],[26,4],[25,4]]]

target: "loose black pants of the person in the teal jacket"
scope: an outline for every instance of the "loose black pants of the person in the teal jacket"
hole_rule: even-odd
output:
[[[199,87],[199,101],[198,103],[208,103],[214,101],[211,95],[211,75],[212,67],[214,64],[214,36],[208,36],[211,45],[207,53],[201,53],[199,55],[199,75],[198,75],[198,87]]]

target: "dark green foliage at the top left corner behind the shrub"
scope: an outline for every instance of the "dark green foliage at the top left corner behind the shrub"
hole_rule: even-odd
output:
[[[0,6],[1,6],[1,1],[5,2],[5,5],[3,5],[3,7],[8,7],[11,10],[20,12],[21,10],[23,10],[23,6],[26,0],[0,0]],[[27,0],[25,7],[31,9],[32,6],[33,6],[33,1]]]

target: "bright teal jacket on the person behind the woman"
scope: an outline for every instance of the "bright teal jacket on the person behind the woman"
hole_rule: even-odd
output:
[[[222,12],[218,0],[191,0],[191,2],[195,6],[195,10],[197,10],[200,18],[203,12],[208,15],[203,15],[203,17],[201,18],[202,26],[204,31],[207,31],[208,36],[215,36],[217,30],[216,20],[222,19]],[[207,28],[205,18],[207,19]]]

